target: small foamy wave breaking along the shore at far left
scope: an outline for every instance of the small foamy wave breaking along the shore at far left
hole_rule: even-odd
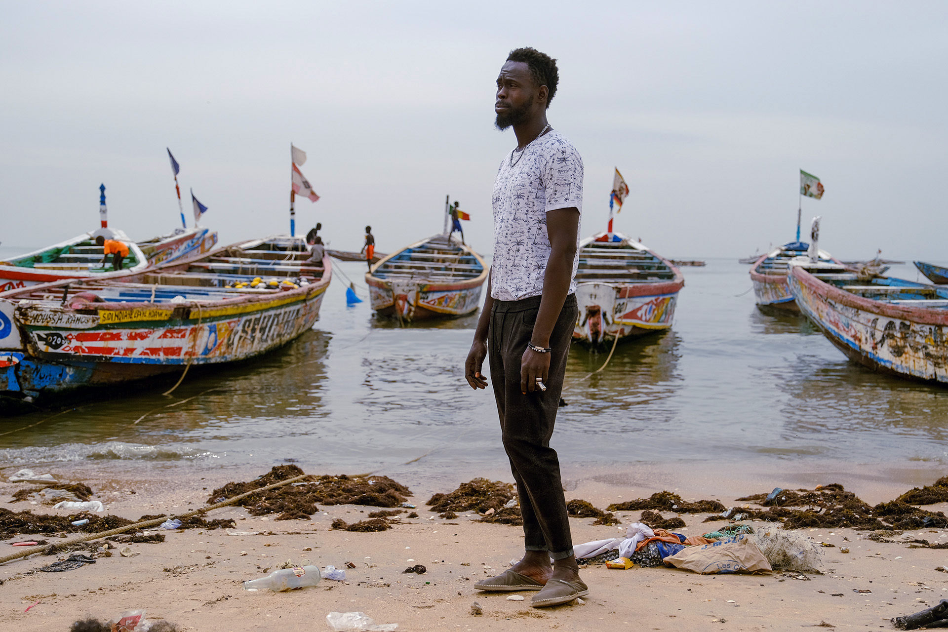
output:
[[[208,450],[189,445],[143,445],[127,442],[64,443],[53,447],[0,450],[0,462],[11,465],[74,460],[197,460],[216,459]]]

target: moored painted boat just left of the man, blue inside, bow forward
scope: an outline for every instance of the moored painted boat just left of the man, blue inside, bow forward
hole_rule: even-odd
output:
[[[446,234],[383,257],[365,275],[372,309],[400,322],[470,314],[485,280],[481,255]]]

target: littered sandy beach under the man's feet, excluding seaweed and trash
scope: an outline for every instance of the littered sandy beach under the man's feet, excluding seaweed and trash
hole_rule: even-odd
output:
[[[319,473],[314,468],[304,469]],[[810,468],[776,479],[775,472],[739,473],[720,466],[695,467],[686,474],[657,466],[602,472],[572,468],[564,472],[564,479],[568,499],[584,498],[602,508],[665,489],[677,491],[686,500],[716,498],[732,506],[740,504],[736,497],[769,491],[775,484],[812,487],[816,479],[838,482],[847,478],[845,469]],[[214,487],[264,473],[247,471],[241,478],[233,470],[216,474],[208,470],[202,472],[203,478],[169,478],[160,473],[160,478],[146,479],[140,471],[132,477],[128,472],[95,466],[69,465],[49,471],[61,480],[85,482],[94,490],[93,498],[106,504],[107,513],[131,519],[190,511],[203,505]],[[857,474],[860,471],[872,474],[866,478]],[[9,468],[5,470],[4,479],[10,473]],[[826,479],[828,476],[833,480]],[[896,497],[913,485],[930,484],[939,476],[923,463],[918,469],[853,467],[849,480],[843,482],[848,490],[873,503]],[[636,566],[611,570],[596,565],[582,571],[591,588],[584,604],[535,609],[529,606],[529,592],[519,593],[524,601],[509,601],[507,594],[486,594],[473,588],[475,582],[500,572],[519,557],[519,527],[474,522],[480,516],[470,512],[443,519],[428,511],[425,501],[431,493],[450,491],[462,480],[412,484],[400,477],[399,482],[411,488],[419,517],[403,516],[401,524],[382,533],[330,528],[337,517],[355,522],[377,509],[373,507],[323,506],[310,520],[284,521],[227,507],[209,517],[233,518],[235,529],[164,532],[164,543],[129,545],[137,553],[133,557],[113,551],[111,557],[100,557],[94,565],[58,573],[31,572],[55,557],[33,555],[9,562],[0,567],[5,628],[67,630],[86,616],[106,620],[134,608],[145,608],[150,619],[201,632],[329,629],[326,614],[356,610],[376,623],[398,623],[404,630],[758,630],[823,623],[836,629],[891,628],[892,617],[937,604],[948,592],[948,573],[937,570],[948,566],[948,551],[909,549],[898,541],[875,542],[867,539],[867,532],[849,529],[811,529],[801,533],[836,545],[824,550],[819,567],[822,574],[777,571],[702,576],[680,569]],[[67,513],[23,501],[10,503],[12,493],[24,485],[0,485],[2,506],[13,511],[28,508],[35,513]],[[925,507],[930,511],[944,508]],[[621,535],[640,514],[617,513],[623,523],[619,527],[593,526],[591,518],[572,518],[574,542]],[[687,526],[676,531],[685,534],[707,533],[727,524],[724,520],[704,523],[705,515],[682,517]],[[948,531],[905,532],[895,539],[915,538],[944,542]],[[10,541],[24,539],[27,537]],[[7,543],[0,547],[4,553],[15,551]],[[842,553],[843,547],[849,552]],[[346,569],[344,582],[323,579],[319,586],[304,590],[271,593],[243,589],[243,581],[263,576],[287,560],[320,568],[343,568],[351,562],[356,568]],[[424,565],[427,572],[402,572],[415,564]],[[482,615],[471,614],[474,602],[482,606]],[[33,607],[25,612],[30,605]]]

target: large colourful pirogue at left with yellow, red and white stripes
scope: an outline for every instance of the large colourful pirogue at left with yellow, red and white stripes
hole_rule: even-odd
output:
[[[313,326],[332,262],[301,238],[219,247],[119,279],[0,294],[0,398],[54,397],[268,352]]]

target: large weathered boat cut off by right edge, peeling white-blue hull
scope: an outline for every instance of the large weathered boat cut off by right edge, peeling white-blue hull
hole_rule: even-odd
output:
[[[795,262],[788,281],[800,311],[853,362],[948,383],[948,288]]]

